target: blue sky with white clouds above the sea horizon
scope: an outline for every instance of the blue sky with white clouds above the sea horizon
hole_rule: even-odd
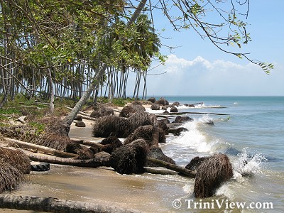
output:
[[[161,48],[168,60],[148,72],[148,97],[284,96],[283,9],[283,0],[250,1],[247,19],[250,25],[246,31],[252,41],[241,49],[237,46],[230,49],[250,53],[251,59],[272,62],[274,69],[270,75],[248,60],[223,53],[195,31],[173,31],[162,13],[153,13],[155,28],[163,37],[170,38],[161,38],[162,43],[178,48],[172,51],[165,46]]]

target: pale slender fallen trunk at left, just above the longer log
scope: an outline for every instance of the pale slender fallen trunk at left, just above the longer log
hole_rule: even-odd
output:
[[[21,148],[33,148],[33,149],[36,149],[38,151],[43,151],[45,153],[50,153],[52,155],[57,155],[57,156],[63,157],[63,158],[74,158],[74,157],[78,157],[79,156],[77,154],[66,153],[66,152],[58,151],[58,150],[56,150],[54,148],[48,148],[46,146],[40,146],[40,145],[33,144],[33,143],[27,143],[27,142],[23,142],[23,141],[18,141],[16,139],[11,139],[11,138],[4,138],[4,139],[6,141],[10,141],[10,142],[16,143]]]

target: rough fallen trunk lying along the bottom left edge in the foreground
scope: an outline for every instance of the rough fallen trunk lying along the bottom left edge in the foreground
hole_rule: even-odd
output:
[[[88,202],[59,200],[55,197],[28,197],[16,195],[0,195],[1,209],[33,210],[36,212],[96,212],[96,213],[137,213],[133,209],[111,207],[109,205]]]

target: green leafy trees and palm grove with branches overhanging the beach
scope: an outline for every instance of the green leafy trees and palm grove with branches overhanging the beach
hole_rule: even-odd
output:
[[[95,100],[99,90],[109,99],[126,97],[130,71],[136,73],[133,97],[139,96],[141,82],[146,97],[151,61],[165,61],[154,10],[176,31],[190,29],[267,73],[273,68],[226,49],[251,40],[249,0],[0,0],[0,108],[18,93],[50,98],[50,104],[54,96],[85,102],[93,94]]]

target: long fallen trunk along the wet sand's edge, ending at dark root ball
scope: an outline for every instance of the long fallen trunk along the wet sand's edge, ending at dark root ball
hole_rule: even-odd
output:
[[[109,153],[97,153],[94,155],[94,158],[89,160],[77,160],[72,158],[59,158],[50,155],[43,155],[38,153],[31,153],[21,149],[23,153],[28,155],[28,158],[34,161],[40,161],[45,163],[54,163],[60,165],[74,165],[78,167],[88,167],[88,168],[97,168],[99,166],[109,166]],[[98,155],[99,154],[99,155]]]

